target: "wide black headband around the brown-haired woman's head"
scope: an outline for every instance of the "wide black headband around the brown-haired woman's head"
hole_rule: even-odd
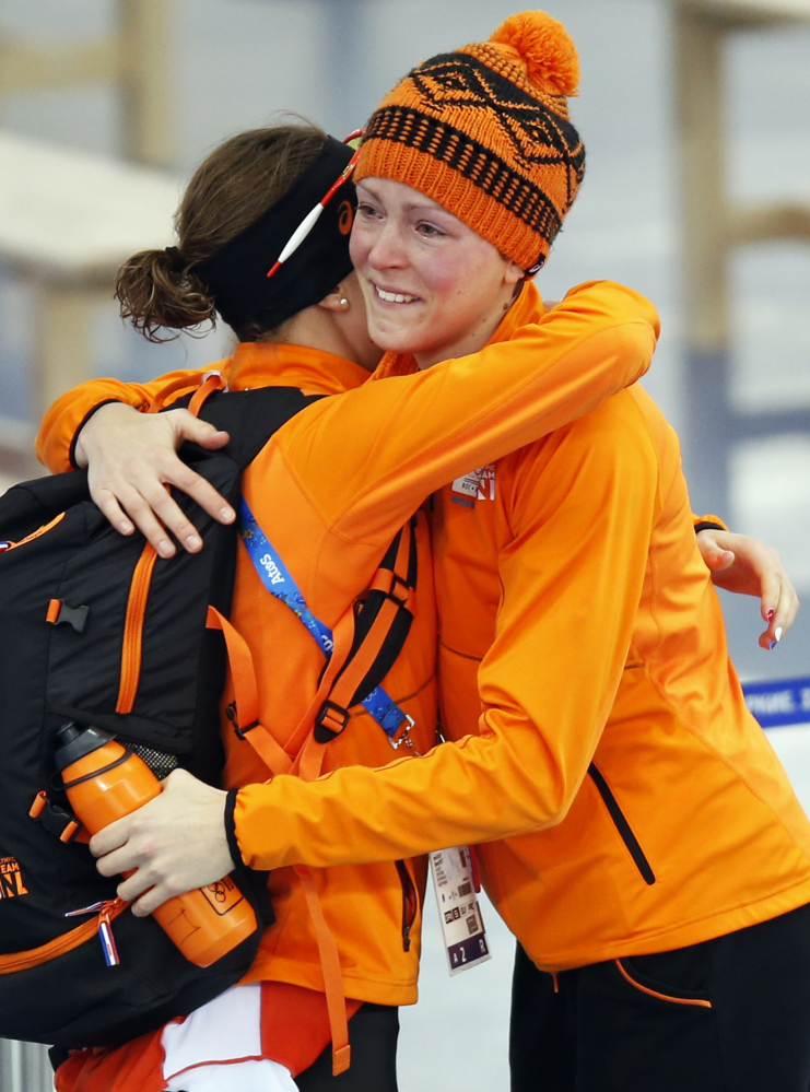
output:
[[[320,301],[352,271],[349,232],[356,196],[351,181],[340,187],[315,227],[273,277],[284,246],[304,218],[324,200],[353,150],[333,137],[286,193],[249,227],[193,267],[228,326],[271,330]]]

